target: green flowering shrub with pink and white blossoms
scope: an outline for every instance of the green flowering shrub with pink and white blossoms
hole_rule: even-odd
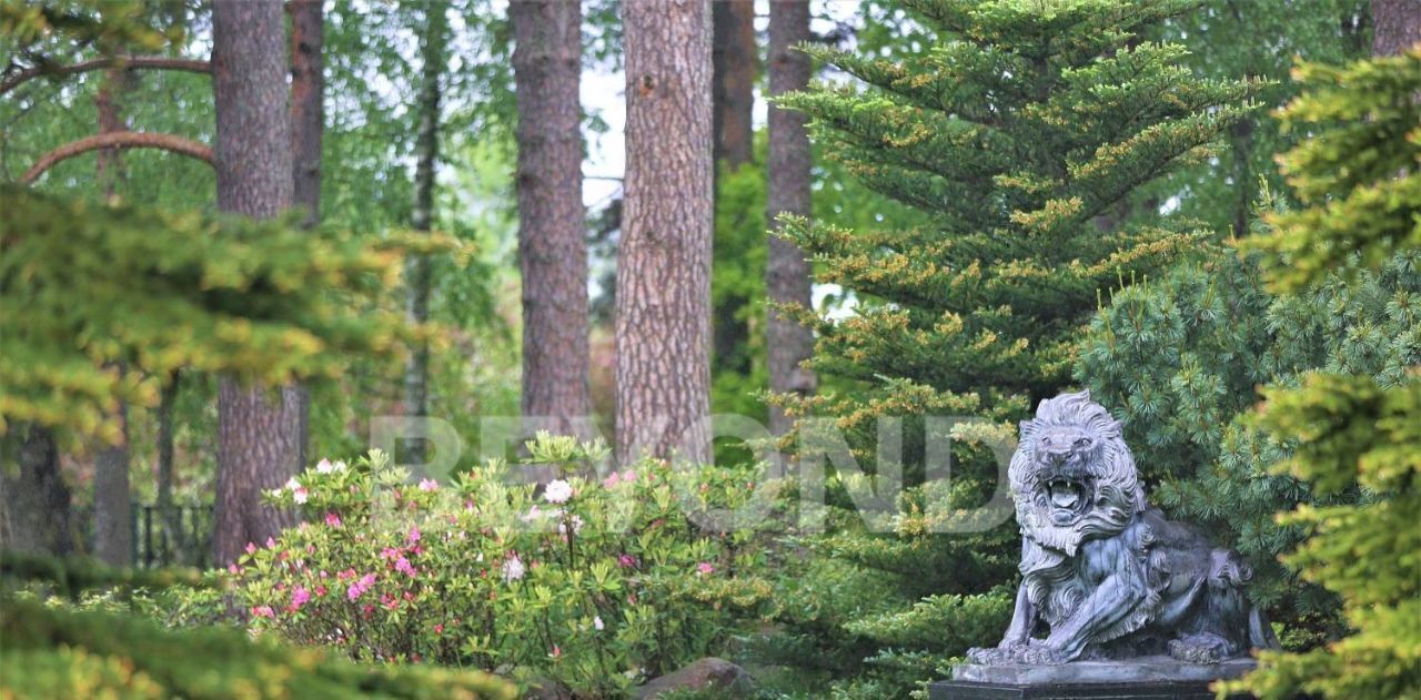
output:
[[[647,460],[583,478],[605,460],[600,446],[540,434],[529,449],[560,478],[517,486],[490,463],[409,484],[379,452],[297,476],[271,498],[306,521],[230,568],[250,625],[360,660],[614,696],[710,653],[769,595],[755,531],[696,524],[752,503],[739,473]]]

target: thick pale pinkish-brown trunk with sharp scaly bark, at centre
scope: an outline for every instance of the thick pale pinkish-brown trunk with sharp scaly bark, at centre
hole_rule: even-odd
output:
[[[710,456],[710,1],[628,0],[617,453]]]

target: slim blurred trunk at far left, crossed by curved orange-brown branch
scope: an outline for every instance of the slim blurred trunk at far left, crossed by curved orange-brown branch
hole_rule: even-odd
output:
[[[98,109],[98,132],[126,131],[121,99],[126,91],[129,72],[109,70],[94,98]],[[122,155],[118,149],[104,149],[95,159],[95,176],[107,199],[118,195],[122,179]],[[132,564],[132,501],[128,487],[128,405],[119,402],[118,420],[122,443],[104,446],[94,456],[94,555],[105,564]]]

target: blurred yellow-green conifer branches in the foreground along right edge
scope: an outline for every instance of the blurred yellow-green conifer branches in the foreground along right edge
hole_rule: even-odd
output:
[[[1316,132],[1280,160],[1307,207],[1270,217],[1272,230],[1248,241],[1285,290],[1376,270],[1421,247],[1421,50],[1299,74],[1309,91],[1283,118]],[[1410,318],[1415,338],[1414,307]],[[1265,399],[1260,429],[1296,442],[1275,473],[1323,497],[1366,496],[1279,517],[1307,534],[1285,562],[1337,594],[1351,633],[1304,653],[1265,652],[1259,670],[1228,689],[1265,699],[1421,694],[1421,375],[1412,365],[1388,386],[1354,372],[1316,373]]]

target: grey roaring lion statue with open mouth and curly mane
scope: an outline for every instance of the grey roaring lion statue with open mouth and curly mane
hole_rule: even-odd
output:
[[[1253,569],[1145,501],[1120,422],[1090,392],[1043,400],[1009,470],[1022,586],[980,665],[1161,655],[1218,663],[1277,647],[1243,592]],[[1039,638],[1044,635],[1044,639]]]

